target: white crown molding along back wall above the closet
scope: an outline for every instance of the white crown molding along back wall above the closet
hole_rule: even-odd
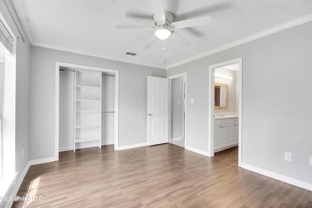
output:
[[[49,49],[53,49],[53,50],[59,50],[59,51],[64,51],[64,52],[70,52],[70,53],[90,56],[90,57],[99,57],[99,58],[105,58],[105,59],[114,60],[114,61],[120,61],[120,62],[124,62],[124,63],[131,63],[131,64],[137,64],[137,65],[142,65],[142,66],[149,66],[149,67],[154,67],[154,68],[158,68],[158,69],[167,69],[166,66],[160,66],[160,65],[157,65],[157,64],[143,63],[143,62],[131,61],[131,60],[130,61],[129,60],[125,61],[125,60],[123,60],[121,58],[103,56],[103,55],[99,55],[97,53],[84,53],[82,51],[69,49],[67,47],[54,46],[54,45],[49,45],[49,44],[42,44],[42,43],[37,43],[37,42],[32,42],[31,45],[39,46],[39,47],[42,47],[42,48],[49,48]]]

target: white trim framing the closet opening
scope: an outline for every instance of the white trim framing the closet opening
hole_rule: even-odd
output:
[[[119,146],[119,71],[115,69],[106,69],[93,66],[85,66],[79,64],[58,62],[55,63],[55,161],[59,160],[59,67],[68,67],[74,69],[85,69],[99,72],[115,74],[115,138],[114,150],[118,150]]]

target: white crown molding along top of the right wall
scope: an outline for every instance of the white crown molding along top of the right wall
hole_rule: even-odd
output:
[[[283,31],[283,30],[286,30],[286,29],[289,29],[289,28],[292,28],[292,27],[295,27],[295,26],[298,26],[300,24],[304,24],[304,23],[307,23],[309,21],[312,21],[312,15],[308,15],[308,16],[305,16],[305,17],[302,17],[302,18],[299,18],[299,19],[295,19],[295,20],[292,20],[290,22],[287,22],[287,23],[284,23],[284,24],[281,24],[281,25],[278,25],[276,27],[273,27],[273,28],[270,28],[268,30],[265,30],[265,31],[262,31],[260,33],[257,33],[257,34],[254,34],[252,36],[249,36],[249,37],[246,37],[246,38],[242,38],[240,40],[237,40],[237,41],[234,41],[232,43],[229,43],[229,44],[226,44],[226,45],[223,45],[219,48],[215,48],[213,50],[210,50],[210,51],[207,51],[207,52],[204,52],[202,54],[199,54],[199,55],[196,55],[194,57],[190,57],[190,58],[187,58],[183,61],[179,61],[179,62],[176,62],[174,64],[171,64],[171,65],[168,65],[166,67],[166,69],[171,69],[173,67],[176,67],[176,66],[179,66],[179,65],[182,65],[182,64],[185,64],[185,63],[188,63],[188,62],[191,62],[191,61],[194,61],[194,60],[197,60],[199,58],[202,58],[202,57],[207,57],[207,56],[210,56],[210,55],[213,55],[215,53],[218,53],[218,52],[221,52],[221,51],[224,51],[224,50],[227,50],[227,49],[230,49],[230,48],[233,48],[235,46],[238,46],[238,45],[241,45],[241,44],[244,44],[244,43],[247,43],[247,42],[251,42],[255,39],[259,39],[259,38],[263,38],[265,36],[269,36],[269,35],[272,35],[274,33],[278,33],[280,31]]]

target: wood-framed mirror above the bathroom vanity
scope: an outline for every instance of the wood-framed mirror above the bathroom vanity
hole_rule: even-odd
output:
[[[215,110],[228,109],[229,85],[215,82]]]

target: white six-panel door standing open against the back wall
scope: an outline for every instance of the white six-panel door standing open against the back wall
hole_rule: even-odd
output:
[[[169,140],[169,79],[147,76],[147,145]]]

